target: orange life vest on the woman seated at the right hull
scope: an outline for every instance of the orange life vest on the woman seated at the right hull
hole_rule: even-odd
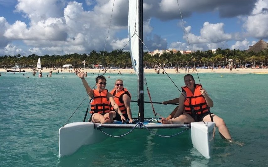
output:
[[[194,94],[188,87],[182,87],[182,91],[186,92],[186,100],[184,102],[185,113],[192,114],[192,109],[194,109],[193,112],[196,112],[196,114],[208,112],[209,107],[206,104],[205,97],[200,93],[201,87],[202,85],[196,84]]]

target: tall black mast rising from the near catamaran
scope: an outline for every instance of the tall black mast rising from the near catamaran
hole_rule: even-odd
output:
[[[139,0],[139,119],[140,122],[144,121],[144,93],[143,93],[143,0]]]

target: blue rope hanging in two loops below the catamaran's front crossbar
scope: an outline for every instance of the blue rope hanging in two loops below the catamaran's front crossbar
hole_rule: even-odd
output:
[[[189,129],[190,129],[190,128],[185,128],[185,129],[182,130],[181,132],[176,133],[176,134],[174,134],[174,135],[170,135],[170,136],[160,135],[160,134],[157,134],[157,133],[151,131],[149,128],[146,127],[146,125],[145,125],[143,122],[139,122],[139,123],[137,123],[137,124],[136,124],[136,125],[129,131],[129,132],[127,132],[127,133],[125,133],[125,134],[122,134],[122,135],[119,135],[119,136],[114,136],[114,135],[111,135],[111,134],[108,134],[108,133],[104,132],[104,131],[102,130],[102,127],[100,127],[100,126],[96,126],[96,129],[100,130],[102,133],[104,133],[104,134],[106,134],[106,135],[108,135],[108,136],[110,136],[110,137],[120,138],[120,137],[126,136],[127,134],[131,133],[137,126],[139,127],[139,129],[143,129],[142,127],[145,127],[149,132],[151,132],[151,133],[153,133],[153,134],[155,134],[155,135],[157,135],[157,136],[159,136],[159,137],[163,137],[163,138],[174,137],[174,136],[177,136],[177,135],[183,133],[185,130],[189,130]]]

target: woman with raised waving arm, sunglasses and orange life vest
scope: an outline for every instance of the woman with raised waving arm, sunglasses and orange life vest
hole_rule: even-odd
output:
[[[85,80],[85,74],[80,69],[75,71],[75,74],[81,78],[84,87],[88,93],[89,98],[91,98],[90,113],[92,114],[89,121],[94,123],[113,123],[116,116],[116,112],[120,115],[122,122],[126,121],[126,118],[122,114],[118,105],[115,103],[113,95],[105,89],[106,79],[104,76],[96,77],[96,89],[91,89],[88,82]],[[115,111],[111,111],[109,107],[110,104],[113,106]]]

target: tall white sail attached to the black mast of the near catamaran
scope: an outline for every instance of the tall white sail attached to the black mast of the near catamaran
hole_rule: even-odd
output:
[[[128,36],[133,69],[139,73],[139,6],[138,1],[128,0]]]

